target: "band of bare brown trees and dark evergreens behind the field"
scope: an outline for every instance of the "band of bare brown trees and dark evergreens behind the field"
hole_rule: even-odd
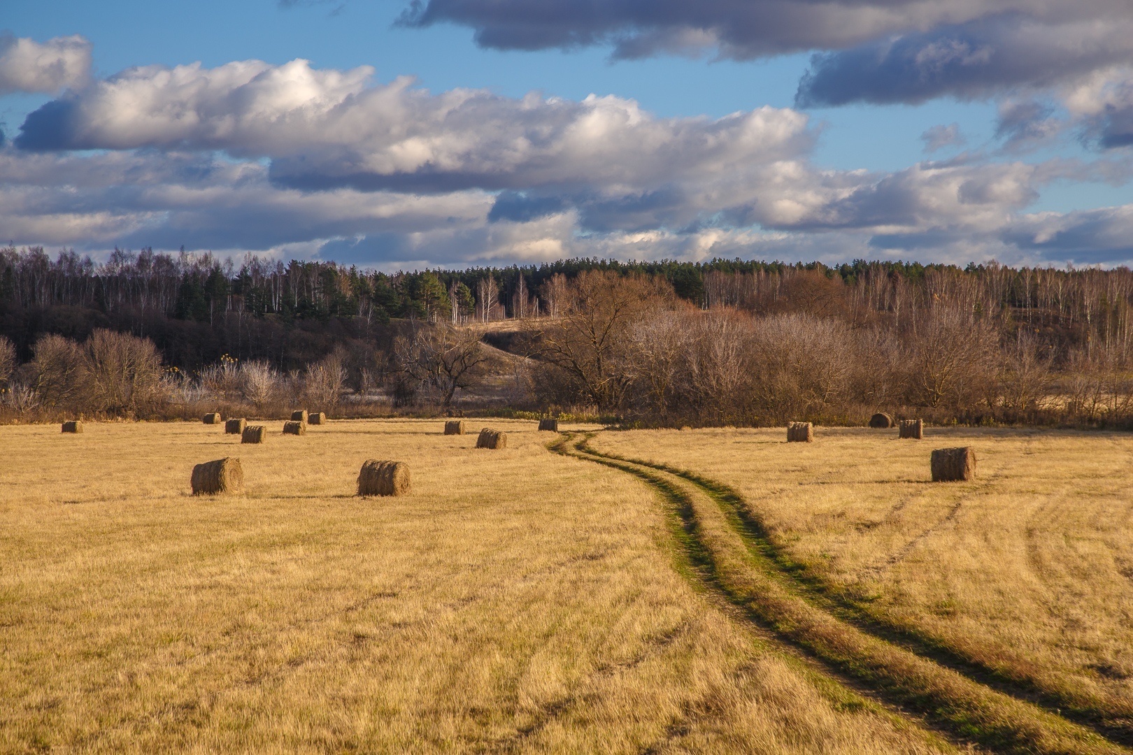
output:
[[[8,247],[0,395],[14,419],[307,402],[661,426],[857,423],[880,410],[1124,426],[1131,303],[1126,268],[994,261],[569,259],[389,274]]]

